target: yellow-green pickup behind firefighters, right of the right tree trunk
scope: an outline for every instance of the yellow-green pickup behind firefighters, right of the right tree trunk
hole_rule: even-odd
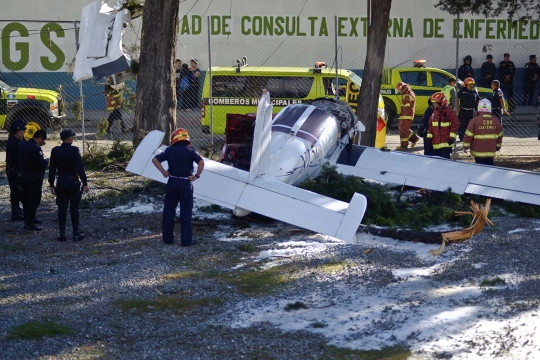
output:
[[[396,85],[399,82],[406,82],[416,95],[415,116],[423,116],[428,104],[427,101],[433,93],[441,91],[448,84],[449,78],[455,78],[447,71],[426,68],[407,67],[384,69],[383,84],[381,85],[381,95],[384,99],[384,107],[388,116],[388,124],[400,115],[401,95],[396,94]],[[463,86],[461,80],[457,81],[458,89]],[[488,88],[477,87],[476,90],[481,98],[491,99],[493,91]]]

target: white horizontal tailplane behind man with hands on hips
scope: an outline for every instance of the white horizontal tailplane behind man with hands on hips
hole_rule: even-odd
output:
[[[165,134],[154,130],[137,147],[126,170],[166,183],[152,164]],[[166,169],[166,162],[162,163]],[[355,194],[350,204],[315,194],[264,177],[249,182],[249,173],[216,161],[204,159],[204,173],[193,183],[194,195],[205,201],[237,207],[287,222],[305,229],[350,241],[364,217],[367,200]]]

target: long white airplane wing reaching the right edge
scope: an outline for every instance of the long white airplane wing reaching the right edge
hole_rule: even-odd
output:
[[[476,165],[438,157],[353,146],[343,150],[337,171],[385,183],[457,194],[475,194],[502,200],[540,205],[537,173]]]

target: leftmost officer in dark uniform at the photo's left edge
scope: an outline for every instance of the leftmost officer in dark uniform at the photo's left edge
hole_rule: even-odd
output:
[[[23,221],[21,190],[19,189],[19,145],[24,141],[26,126],[23,121],[15,120],[9,127],[9,137],[6,143],[6,174],[9,184],[9,199],[11,202],[11,221]]]

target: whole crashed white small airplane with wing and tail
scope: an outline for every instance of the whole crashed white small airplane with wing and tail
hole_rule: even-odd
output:
[[[269,94],[263,95],[250,172],[205,159],[205,175],[194,183],[196,197],[239,216],[257,212],[343,240],[353,239],[366,198],[355,194],[346,204],[291,186],[317,176],[324,163],[337,165],[343,174],[381,182],[540,205],[536,173],[352,144],[359,142],[364,127],[344,102],[321,99],[290,105],[273,120],[271,109]],[[166,182],[151,163],[166,148],[161,146],[163,136],[149,133],[126,170]]]

